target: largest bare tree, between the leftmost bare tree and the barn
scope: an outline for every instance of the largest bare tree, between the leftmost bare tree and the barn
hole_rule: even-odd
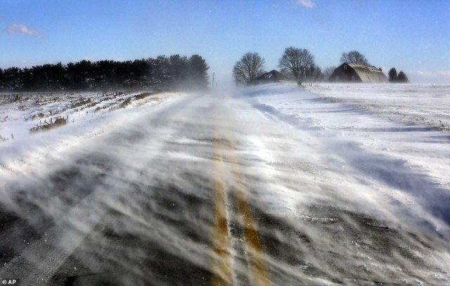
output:
[[[295,79],[302,80],[307,76],[307,72],[314,68],[314,56],[306,48],[290,46],[278,60],[278,67],[290,72]]]

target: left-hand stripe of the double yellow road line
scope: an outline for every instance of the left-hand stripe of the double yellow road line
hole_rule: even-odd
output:
[[[228,250],[229,231],[226,223],[225,190],[222,182],[223,168],[221,157],[221,141],[214,138],[214,197],[213,197],[213,229],[212,247],[216,257],[212,260],[211,285],[231,285],[230,255]]]

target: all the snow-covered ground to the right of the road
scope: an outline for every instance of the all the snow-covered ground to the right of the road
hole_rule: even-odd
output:
[[[428,209],[430,220],[444,222],[433,225],[448,231],[450,86],[286,84],[250,94],[254,108],[318,142],[314,152],[375,183],[375,193],[413,204],[409,216],[423,219]]]

